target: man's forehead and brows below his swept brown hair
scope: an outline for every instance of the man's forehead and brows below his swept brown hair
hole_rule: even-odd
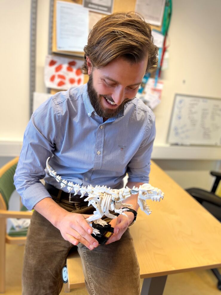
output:
[[[148,58],[140,62],[130,62],[123,58],[114,59],[108,65],[94,69],[93,77],[98,80],[116,81],[121,85],[133,85],[142,82],[147,68]]]

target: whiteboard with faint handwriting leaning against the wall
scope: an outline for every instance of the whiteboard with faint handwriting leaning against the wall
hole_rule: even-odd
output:
[[[176,94],[168,143],[221,145],[221,99]]]

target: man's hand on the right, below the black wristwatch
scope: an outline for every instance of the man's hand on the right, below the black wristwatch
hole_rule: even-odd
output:
[[[114,218],[110,221],[110,225],[112,227],[114,227],[113,230],[113,235],[110,237],[110,239],[108,239],[108,241],[106,242],[107,244],[113,243],[115,241],[118,241],[122,234],[126,231],[126,229],[128,228],[128,226],[131,224],[131,222],[134,219],[134,214],[132,212],[124,212],[126,213],[126,215],[118,215],[117,218]]]

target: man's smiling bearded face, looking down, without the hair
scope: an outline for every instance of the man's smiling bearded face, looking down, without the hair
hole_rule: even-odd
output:
[[[148,57],[131,63],[119,56],[100,69],[93,68],[88,56],[86,60],[90,102],[96,113],[107,120],[119,114],[125,104],[134,99],[146,73]]]

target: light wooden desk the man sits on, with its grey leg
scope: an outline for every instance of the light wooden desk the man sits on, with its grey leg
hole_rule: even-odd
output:
[[[165,198],[148,201],[151,215],[139,210],[130,228],[144,279],[141,294],[162,294],[171,273],[221,266],[221,224],[154,162],[150,183]],[[79,256],[67,259],[69,287],[84,286]],[[149,278],[149,279],[148,279]]]

